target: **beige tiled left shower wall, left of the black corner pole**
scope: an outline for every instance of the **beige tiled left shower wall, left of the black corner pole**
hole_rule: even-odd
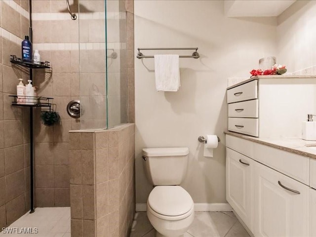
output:
[[[29,35],[29,1],[0,1],[0,228],[30,209],[29,109],[12,107],[19,78],[28,70],[11,65],[21,57],[21,41]]]

